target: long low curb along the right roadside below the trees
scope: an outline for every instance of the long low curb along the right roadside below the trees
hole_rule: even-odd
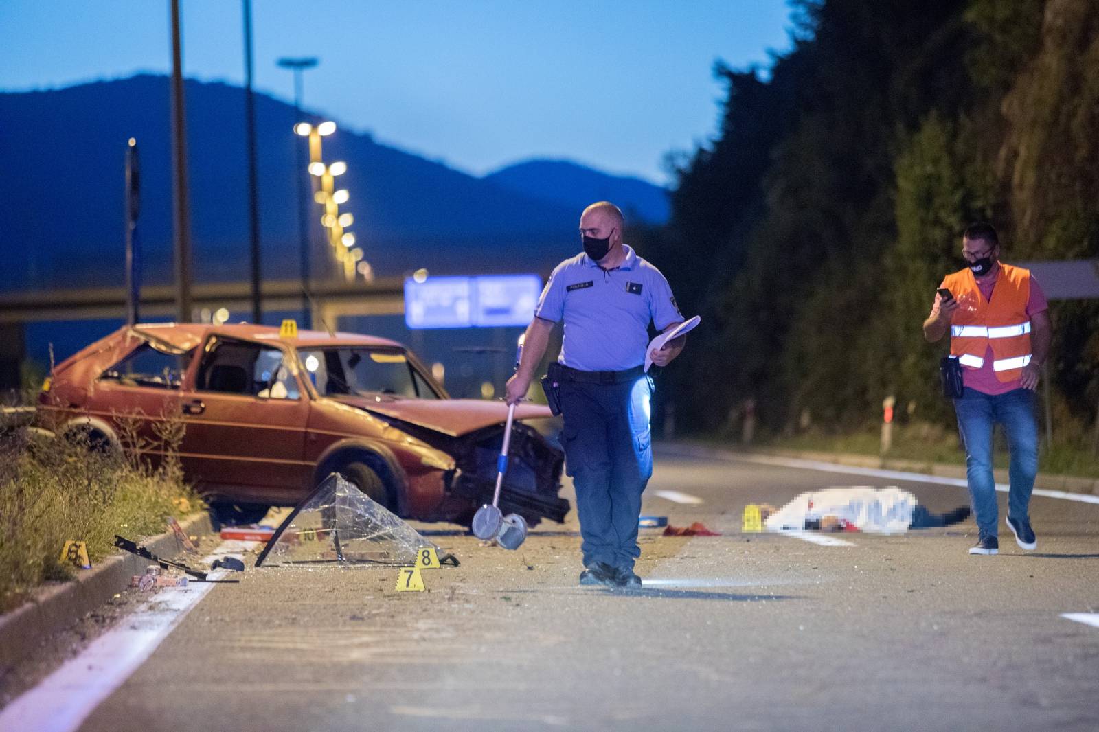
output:
[[[664,447],[679,448],[703,448],[712,451],[714,454],[729,456],[746,455],[769,455],[778,457],[797,457],[806,461],[817,461],[818,463],[833,463],[835,465],[850,465],[853,467],[874,468],[879,470],[900,470],[904,473],[922,473],[942,478],[965,479],[966,470],[964,465],[951,465],[948,463],[925,463],[922,461],[900,459],[893,457],[881,457],[880,455],[858,455],[854,453],[826,453],[808,450],[741,450],[737,447],[723,447],[703,442],[662,442]],[[996,481],[1007,484],[1010,481],[1007,470],[995,470]],[[1069,493],[1084,493],[1087,496],[1099,496],[1099,480],[1095,478],[1077,478],[1068,475],[1050,475],[1040,473],[1034,480],[1035,488],[1044,490],[1063,490]]]

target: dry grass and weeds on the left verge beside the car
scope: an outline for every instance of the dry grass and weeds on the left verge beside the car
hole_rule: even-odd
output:
[[[158,534],[180,514],[180,499],[201,506],[175,458],[181,426],[165,422],[154,439],[140,439],[136,424],[123,422],[121,452],[21,430],[0,435],[0,612],[45,581],[73,577],[59,562],[67,540],[87,542],[95,564],[115,551],[114,534]],[[154,442],[168,455],[155,468],[141,456]]]

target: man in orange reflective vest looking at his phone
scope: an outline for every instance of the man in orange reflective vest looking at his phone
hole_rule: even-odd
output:
[[[962,237],[968,266],[947,275],[935,295],[923,335],[934,343],[947,331],[951,358],[962,366],[963,393],[954,400],[966,451],[966,477],[979,536],[970,554],[997,554],[992,424],[999,422],[1011,451],[1008,528],[1024,550],[1037,546],[1029,506],[1037,475],[1034,389],[1052,330],[1048,304],[1030,270],[1000,262],[996,230],[975,223]]]

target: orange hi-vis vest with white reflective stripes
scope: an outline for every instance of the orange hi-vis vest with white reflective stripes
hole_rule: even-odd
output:
[[[996,378],[1018,379],[1031,359],[1030,269],[1001,264],[990,301],[968,267],[947,275],[945,285],[958,303],[951,322],[951,356],[967,368],[981,368],[991,346]]]

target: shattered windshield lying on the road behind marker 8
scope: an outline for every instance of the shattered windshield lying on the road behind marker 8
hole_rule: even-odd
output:
[[[279,525],[256,566],[300,564],[412,565],[434,546],[412,526],[333,473]],[[457,564],[452,559],[451,564]]]

